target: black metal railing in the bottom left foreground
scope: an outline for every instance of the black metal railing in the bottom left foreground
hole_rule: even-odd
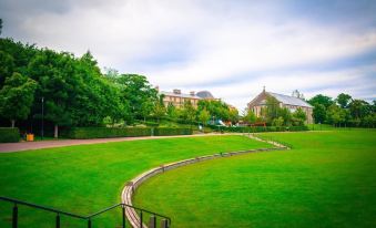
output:
[[[68,216],[68,217],[71,217],[71,218],[75,218],[75,219],[85,220],[87,224],[88,224],[88,228],[91,228],[92,227],[92,220],[93,220],[94,217],[100,216],[100,215],[102,215],[102,214],[104,214],[109,210],[114,209],[114,208],[122,208],[122,228],[125,228],[125,226],[126,226],[125,209],[128,207],[134,209],[135,211],[138,211],[140,214],[140,220],[139,220],[140,225],[139,225],[139,227],[141,227],[141,228],[144,227],[143,214],[150,214],[151,215],[150,222],[149,222],[150,227],[154,227],[154,228],[157,227],[156,226],[156,218],[160,218],[162,220],[162,222],[161,222],[162,228],[169,228],[171,226],[171,218],[170,217],[166,217],[166,216],[163,216],[163,215],[150,211],[150,210],[145,210],[143,208],[134,207],[132,205],[126,205],[126,204],[116,204],[116,205],[113,205],[111,207],[104,208],[104,209],[102,209],[98,213],[91,214],[89,216],[81,216],[81,215],[75,215],[75,214],[72,214],[72,213],[67,213],[67,211],[62,211],[62,210],[54,209],[54,208],[49,208],[49,207],[44,207],[44,206],[40,206],[40,205],[27,203],[27,201],[21,201],[19,199],[13,199],[13,198],[9,198],[9,197],[0,196],[0,200],[9,201],[9,203],[13,204],[12,228],[18,227],[19,205],[23,205],[23,206],[28,206],[28,207],[35,208],[35,209],[39,209],[39,210],[55,214],[57,215],[55,216],[55,227],[57,228],[60,228],[60,226],[61,226],[61,222],[60,222],[61,221],[61,219],[60,219],[61,215]]]

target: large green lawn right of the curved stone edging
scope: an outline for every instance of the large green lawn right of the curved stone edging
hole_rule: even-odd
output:
[[[135,205],[173,227],[376,227],[376,132],[265,133],[292,151],[181,167],[144,183]]]

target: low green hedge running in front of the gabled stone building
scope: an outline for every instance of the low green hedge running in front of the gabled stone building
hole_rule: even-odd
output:
[[[210,125],[214,131],[221,132],[237,132],[237,133],[257,133],[257,132],[301,132],[308,131],[308,126],[255,126],[255,127],[226,127],[226,126],[214,126]]]

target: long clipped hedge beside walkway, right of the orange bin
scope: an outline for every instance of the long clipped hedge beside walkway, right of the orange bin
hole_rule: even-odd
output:
[[[77,139],[190,134],[192,134],[192,129],[173,127],[74,127],[62,133],[64,137]]]

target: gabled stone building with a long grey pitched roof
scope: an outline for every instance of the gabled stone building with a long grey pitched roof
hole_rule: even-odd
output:
[[[268,96],[276,99],[280,107],[287,107],[292,113],[294,113],[297,108],[302,108],[307,116],[306,123],[313,123],[313,106],[311,104],[295,96],[266,92],[265,89],[247,104],[247,108],[260,117],[262,110],[266,107],[266,99]]]

